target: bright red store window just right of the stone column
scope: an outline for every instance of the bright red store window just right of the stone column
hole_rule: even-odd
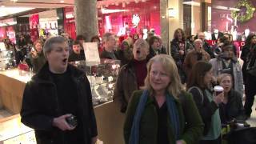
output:
[[[147,30],[160,35],[160,0],[122,2],[98,9],[98,29],[118,36],[139,34],[143,37]],[[143,32],[144,31],[144,32]]]

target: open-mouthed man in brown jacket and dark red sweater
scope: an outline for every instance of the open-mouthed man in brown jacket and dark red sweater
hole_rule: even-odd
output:
[[[118,74],[114,88],[114,102],[118,102],[122,113],[126,112],[130,96],[134,90],[139,90],[141,86],[144,86],[149,47],[146,40],[139,38],[134,43],[134,59],[122,66]]]

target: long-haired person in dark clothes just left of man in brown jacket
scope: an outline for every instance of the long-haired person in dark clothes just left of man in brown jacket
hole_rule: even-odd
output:
[[[178,74],[182,79],[182,83],[186,82],[186,73],[182,66],[188,51],[192,49],[190,42],[186,41],[185,33],[182,29],[178,28],[174,31],[174,39],[170,42],[170,53],[174,58],[178,67]]]

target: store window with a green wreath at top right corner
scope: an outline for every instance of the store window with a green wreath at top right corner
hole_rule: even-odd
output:
[[[211,30],[233,34],[234,40],[245,40],[248,32],[256,32],[255,7],[254,0],[212,0]]]

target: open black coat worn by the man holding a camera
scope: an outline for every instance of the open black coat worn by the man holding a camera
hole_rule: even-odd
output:
[[[77,88],[78,109],[82,117],[81,133],[85,138],[83,144],[90,144],[91,138],[98,135],[90,83],[86,74],[74,66],[68,65],[67,70],[70,71]],[[58,97],[48,63],[26,83],[21,116],[22,123],[34,129],[38,144],[55,144],[55,136],[62,134],[58,128],[52,126],[53,119],[58,117]]]

